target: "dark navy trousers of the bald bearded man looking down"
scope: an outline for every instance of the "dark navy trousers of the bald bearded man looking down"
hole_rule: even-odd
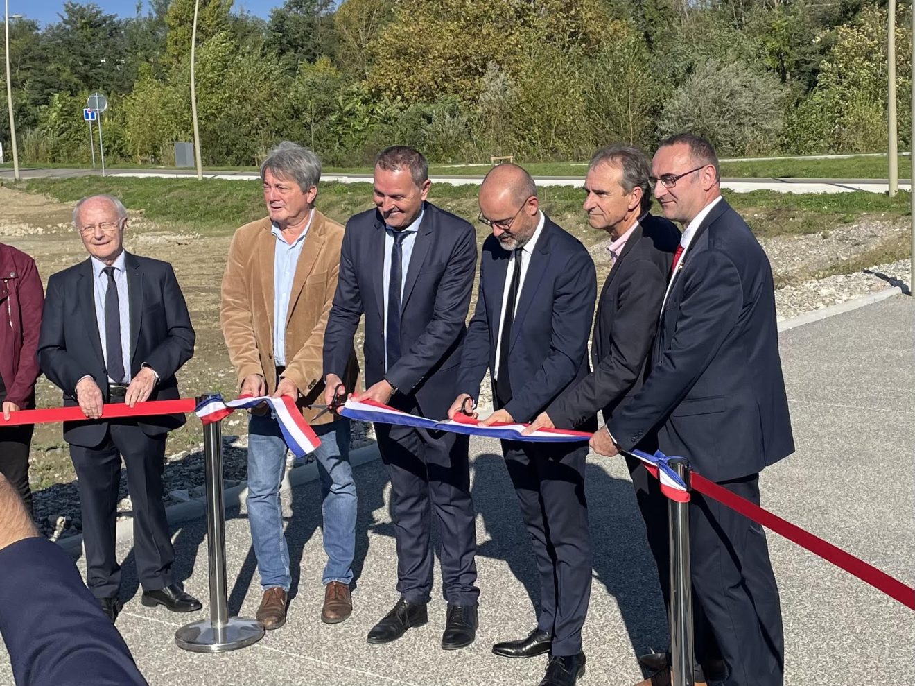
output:
[[[577,655],[591,598],[587,444],[501,442],[540,574],[537,628],[553,635],[554,655]]]

